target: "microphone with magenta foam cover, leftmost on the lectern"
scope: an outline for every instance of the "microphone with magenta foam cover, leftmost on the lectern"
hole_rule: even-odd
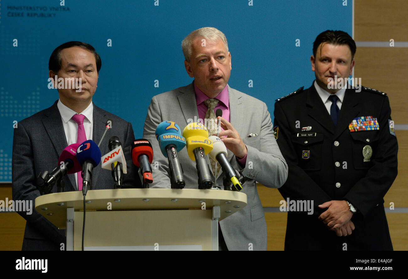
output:
[[[64,186],[61,184],[62,177],[64,177],[66,174],[78,173],[78,171],[81,171],[81,165],[76,157],[78,146],[79,144],[75,143],[64,148],[60,158],[58,159],[58,166],[54,168],[51,173],[45,171],[39,175],[37,179],[39,186],[44,187],[44,184],[47,184],[46,188],[44,189],[45,191],[43,191],[44,193],[51,193],[52,187],[57,182],[58,192],[62,192],[64,189]]]

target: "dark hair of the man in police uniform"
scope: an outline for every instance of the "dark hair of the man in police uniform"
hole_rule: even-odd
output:
[[[351,60],[354,59],[354,55],[356,53],[356,43],[353,38],[350,37],[344,31],[333,31],[333,30],[326,30],[319,35],[317,35],[315,42],[313,42],[313,56],[316,58],[317,48],[322,42],[327,42],[328,44],[347,44],[350,47],[351,51]]]

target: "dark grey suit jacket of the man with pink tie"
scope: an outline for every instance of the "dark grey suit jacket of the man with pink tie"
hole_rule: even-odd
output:
[[[36,179],[43,171],[51,172],[58,165],[58,158],[68,146],[62,119],[56,101],[53,106],[21,120],[14,129],[13,139],[13,200],[32,200],[40,196]],[[107,120],[112,128],[100,144],[102,155],[109,152],[109,138],[119,137],[126,157],[127,174],[124,175],[124,187],[140,188],[138,168],[131,159],[131,142],[135,139],[132,125],[120,117],[93,105],[93,141],[97,144],[102,138]],[[74,174],[63,178],[64,191],[74,191]],[[92,189],[112,189],[111,171],[102,170],[101,164],[93,169]],[[57,192],[54,186],[53,193]],[[65,230],[59,230],[35,209],[31,215],[19,214],[27,220],[22,250],[60,250],[65,242]]]

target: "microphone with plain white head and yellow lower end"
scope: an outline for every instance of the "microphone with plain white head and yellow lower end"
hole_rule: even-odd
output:
[[[217,161],[224,174],[226,177],[232,182],[234,186],[234,190],[240,191],[242,190],[242,186],[238,181],[237,174],[235,173],[235,170],[231,166],[230,162],[228,162],[227,159],[227,148],[222,142],[222,140],[219,137],[216,136],[210,136],[208,137],[212,142],[213,142],[213,150],[211,150],[210,153],[208,153],[208,156],[210,156],[214,161]],[[224,185],[226,186],[226,185]],[[229,187],[229,185],[227,185]]]

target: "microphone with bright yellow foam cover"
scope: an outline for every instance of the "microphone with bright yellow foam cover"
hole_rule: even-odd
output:
[[[188,157],[196,162],[198,188],[211,188],[213,182],[205,155],[213,149],[213,143],[208,140],[206,127],[201,123],[190,123],[184,128],[183,137],[186,139]]]

